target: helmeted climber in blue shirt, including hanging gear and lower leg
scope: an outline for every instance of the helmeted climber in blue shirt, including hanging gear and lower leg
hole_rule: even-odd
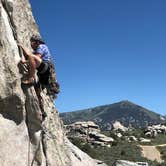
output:
[[[19,47],[23,50],[25,59],[21,59],[21,63],[29,64],[29,78],[27,80],[22,80],[24,85],[34,85],[35,91],[39,99],[39,105],[43,112],[43,102],[40,95],[43,88],[47,88],[47,92],[55,98],[55,95],[59,92],[59,84],[55,78],[55,70],[51,63],[50,51],[39,35],[33,35],[30,38],[30,44],[33,49],[32,53],[23,48],[21,45]],[[35,71],[37,70],[37,75],[39,81],[35,79]]]

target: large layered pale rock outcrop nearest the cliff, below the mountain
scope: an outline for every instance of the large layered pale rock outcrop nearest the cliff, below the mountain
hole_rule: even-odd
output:
[[[101,134],[99,126],[92,121],[66,125],[66,131],[69,138],[80,138],[91,144],[110,147],[110,143],[114,142],[113,138]]]

